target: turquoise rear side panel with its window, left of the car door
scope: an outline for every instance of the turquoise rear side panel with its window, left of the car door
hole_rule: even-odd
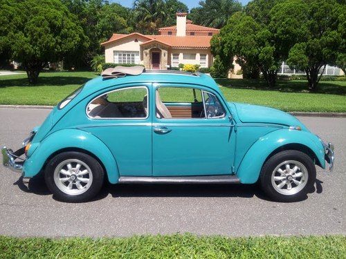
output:
[[[107,145],[120,175],[152,175],[150,84],[127,86],[95,96],[86,108],[84,128]]]

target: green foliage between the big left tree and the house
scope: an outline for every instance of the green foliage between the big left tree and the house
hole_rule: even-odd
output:
[[[65,68],[86,68],[95,55],[102,53],[100,44],[107,41],[113,33],[129,33],[131,28],[131,10],[118,3],[103,0],[62,0],[70,12],[78,17],[84,35],[90,44],[78,48],[76,52],[64,57]]]

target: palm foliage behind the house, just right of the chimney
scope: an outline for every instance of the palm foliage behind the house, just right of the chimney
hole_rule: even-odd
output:
[[[242,10],[242,4],[236,0],[200,1],[199,7],[192,8],[190,17],[196,24],[213,28],[222,28],[228,19]]]

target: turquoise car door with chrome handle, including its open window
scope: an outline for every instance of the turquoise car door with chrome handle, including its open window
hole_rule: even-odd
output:
[[[228,108],[217,94],[170,86],[158,86],[153,91],[153,175],[231,174],[235,132]],[[184,112],[176,113],[172,106]]]

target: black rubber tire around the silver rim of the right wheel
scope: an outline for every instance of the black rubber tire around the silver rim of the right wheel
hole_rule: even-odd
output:
[[[289,175],[284,176],[286,174],[282,173],[274,173],[275,169],[277,169],[277,166],[280,164],[286,162],[286,161],[295,161],[304,166],[304,169],[299,169],[300,172],[302,172],[304,175],[307,175],[307,180],[304,180],[304,178],[297,178],[295,176],[294,180],[298,180],[298,182],[304,182],[300,188],[296,188],[295,191],[297,193],[294,193],[293,188],[298,187],[298,184],[295,184],[292,182],[292,177],[289,178]],[[286,164],[286,163],[285,163]],[[283,164],[282,166],[284,166]],[[297,165],[297,164],[295,164]],[[294,164],[292,164],[294,166]],[[281,167],[280,167],[281,168]],[[294,169],[294,167],[293,167]],[[306,170],[305,170],[306,169]],[[277,172],[277,171],[275,171]],[[280,171],[281,172],[281,171]],[[286,170],[284,171],[286,173]],[[304,173],[305,172],[305,173]],[[274,182],[272,181],[272,175],[274,176],[280,176],[286,177],[286,179],[276,181],[273,178]],[[294,173],[291,175],[295,175]],[[305,176],[306,177],[306,176]],[[305,178],[306,179],[306,178]],[[282,187],[282,190],[280,189],[281,186],[279,186],[281,183],[283,184],[284,181],[290,182],[291,189],[288,189],[289,187],[287,184],[284,184],[284,187]],[[304,200],[307,198],[307,193],[313,188],[313,184],[316,182],[316,167],[315,164],[313,164],[313,161],[309,157],[309,155],[302,153],[300,151],[295,150],[288,150],[288,151],[282,151],[280,153],[277,153],[270,157],[263,165],[262,171],[260,173],[260,185],[262,187],[262,190],[271,198],[272,200],[275,200],[277,202],[298,202],[300,200]],[[273,186],[273,184],[276,184],[276,187]],[[285,191],[286,189],[286,191]],[[280,193],[281,192],[287,192],[287,193]],[[292,193],[289,194],[289,191]]]

